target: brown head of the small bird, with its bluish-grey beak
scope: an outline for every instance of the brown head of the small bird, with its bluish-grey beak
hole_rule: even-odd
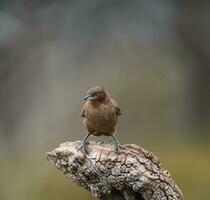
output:
[[[87,91],[87,95],[84,97],[84,100],[104,101],[108,96],[109,94],[104,88],[96,86]]]

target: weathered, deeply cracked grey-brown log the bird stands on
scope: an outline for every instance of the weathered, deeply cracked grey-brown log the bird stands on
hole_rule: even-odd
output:
[[[181,190],[151,152],[133,144],[116,152],[110,144],[91,142],[85,155],[77,151],[80,144],[63,143],[46,156],[98,199],[183,200]]]

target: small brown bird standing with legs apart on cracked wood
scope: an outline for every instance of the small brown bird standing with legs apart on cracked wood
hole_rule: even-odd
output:
[[[87,138],[94,136],[112,136],[113,143],[118,151],[122,146],[114,136],[118,116],[121,115],[117,102],[102,87],[96,86],[87,91],[84,97],[87,102],[84,104],[81,117],[88,130],[88,135],[83,140],[78,150],[87,152]]]

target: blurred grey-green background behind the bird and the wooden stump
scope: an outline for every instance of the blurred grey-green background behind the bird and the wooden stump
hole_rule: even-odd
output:
[[[121,107],[120,142],[209,200],[209,36],[205,0],[1,0],[0,199],[94,199],[44,153],[86,135],[82,97],[100,85]]]

